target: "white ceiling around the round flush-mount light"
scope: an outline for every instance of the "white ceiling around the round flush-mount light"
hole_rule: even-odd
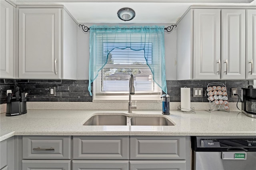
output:
[[[256,6],[256,0],[9,0],[16,5],[64,5],[78,23],[176,23],[189,6]],[[221,3],[220,3],[221,2]],[[120,8],[136,16],[122,21]]]

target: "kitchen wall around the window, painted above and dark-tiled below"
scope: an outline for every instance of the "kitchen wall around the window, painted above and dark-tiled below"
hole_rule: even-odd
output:
[[[92,26],[93,23],[82,23],[85,26]],[[97,24],[100,25],[100,24]],[[140,26],[142,24],[108,24],[120,26]],[[155,24],[143,24],[155,25]],[[172,24],[157,24],[165,27]],[[82,28],[78,29],[78,43],[77,43],[77,61],[78,61],[78,80],[19,80],[19,79],[0,79],[0,103],[6,103],[6,90],[13,89],[14,85],[18,85],[24,91],[31,91],[27,100],[28,101],[66,101],[66,102],[91,102],[92,97],[88,93],[88,66],[89,66],[89,37],[90,31],[85,33]],[[198,81],[198,80],[176,80],[176,29],[172,32],[164,33],[165,38],[165,61],[166,61],[166,80],[168,94],[170,95],[171,102],[180,101],[180,87],[191,88],[191,102],[208,102],[205,93],[207,84],[216,82],[216,80]],[[226,83],[228,89],[231,87],[238,88],[238,94],[241,94],[241,88],[252,85],[253,81],[217,81]],[[56,87],[56,96],[49,94],[49,87]],[[192,97],[193,87],[203,87],[203,97]],[[228,96],[230,91],[228,90]],[[236,102],[237,98],[230,98],[230,102]]]

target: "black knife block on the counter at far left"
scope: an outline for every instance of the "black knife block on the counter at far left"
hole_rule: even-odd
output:
[[[9,92],[10,91],[10,92]],[[14,87],[14,91],[7,91],[6,116],[23,115],[27,113],[26,97],[28,93],[22,92],[18,86]]]

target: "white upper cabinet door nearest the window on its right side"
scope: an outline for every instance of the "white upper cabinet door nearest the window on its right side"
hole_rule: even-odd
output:
[[[220,9],[194,10],[194,79],[220,79]]]

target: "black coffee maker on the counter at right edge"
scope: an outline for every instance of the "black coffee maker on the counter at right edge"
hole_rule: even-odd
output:
[[[250,85],[248,88],[242,88],[242,91],[242,112],[249,117],[256,118],[256,88]]]

